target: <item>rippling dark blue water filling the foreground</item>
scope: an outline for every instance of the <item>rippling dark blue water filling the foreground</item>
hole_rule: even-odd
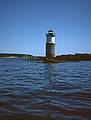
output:
[[[91,62],[0,59],[0,118],[5,116],[90,120]]]

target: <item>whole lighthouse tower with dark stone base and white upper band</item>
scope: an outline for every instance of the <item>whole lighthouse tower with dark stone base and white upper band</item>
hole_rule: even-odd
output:
[[[55,57],[55,33],[50,28],[46,33],[46,58]]]

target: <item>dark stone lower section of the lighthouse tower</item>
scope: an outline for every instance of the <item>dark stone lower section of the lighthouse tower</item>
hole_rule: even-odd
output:
[[[54,58],[55,57],[55,44],[46,43],[46,58]]]

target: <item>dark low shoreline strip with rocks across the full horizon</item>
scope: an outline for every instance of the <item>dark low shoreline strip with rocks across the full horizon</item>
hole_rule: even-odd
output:
[[[54,58],[46,58],[44,56],[33,56],[29,54],[13,54],[13,53],[0,53],[0,58],[22,58],[25,60],[37,60],[43,63],[59,63],[64,61],[91,61],[91,54],[68,54],[57,55]]]

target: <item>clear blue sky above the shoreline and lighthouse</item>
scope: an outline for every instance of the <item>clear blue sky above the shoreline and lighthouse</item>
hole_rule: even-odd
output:
[[[0,53],[44,56],[50,27],[56,55],[91,53],[91,0],[0,0]]]

